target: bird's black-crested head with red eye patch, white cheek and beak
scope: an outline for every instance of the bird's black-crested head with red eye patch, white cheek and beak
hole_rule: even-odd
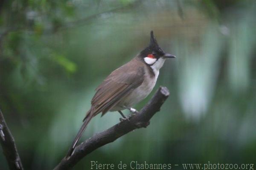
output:
[[[166,58],[176,58],[175,55],[167,54],[163,51],[163,49],[160,48],[160,46],[157,43],[157,40],[154,37],[153,31],[150,32],[149,46],[140,52],[140,57],[142,57],[145,63],[150,66],[163,63],[166,60]]]

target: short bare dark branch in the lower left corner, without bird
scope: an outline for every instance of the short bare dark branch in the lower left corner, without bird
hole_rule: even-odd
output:
[[[4,117],[0,109],[0,143],[3,148],[3,153],[6,157],[6,160],[9,164],[10,170],[23,170],[20,156],[17,151],[14,138],[10,132]]]

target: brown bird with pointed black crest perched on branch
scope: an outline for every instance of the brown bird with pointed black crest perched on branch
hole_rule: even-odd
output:
[[[126,117],[122,110],[128,109],[132,115],[138,113],[133,106],[147,97],[154,88],[159,70],[167,58],[175,55],[165,53],[157,43],[153,31],[150,32],[150,43],[135,58],[111,72],[96,88],[91,100],[91,108],[83,119],[83,124],[74,139],[66,158],[69,158],[86,129],[90,120],[102,113],[118,111],[124,121]]]

